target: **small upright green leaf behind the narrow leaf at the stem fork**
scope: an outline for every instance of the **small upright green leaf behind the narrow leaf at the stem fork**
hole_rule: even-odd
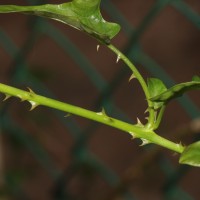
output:
[[[148,91],[149,91],[151,98],[153,98],[157,95],[160,95],[161,93],[163,93],[164,91],[167,90],[164,83],[160,79],[157,79],[157,78],[149,78],[147,80],[147,85],[148,85]],[[163,102],[154,102],[153,103],[154,109],[158,109],[158,108],[162,107],[162,105],[163,105]]]

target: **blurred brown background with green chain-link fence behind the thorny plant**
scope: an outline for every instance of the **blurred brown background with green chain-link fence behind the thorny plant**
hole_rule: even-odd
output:
[[[64,1],[1,0],[33,5]],[[121,24],[113,43],[145,79],[170,87],[200,75],[199,0],[102,0],[106,20]],[[130,70],[106,47],[59,22],[0,15],[0,82],[110,116],[142,122],[146,102]],[[1,100],[3,100],[1,95]],[[0,199],[193,200],[199,168],[119,130],[30,105],[0,103]],[[189,144],[200,138],[199,91],[169,104],[158,133]]]

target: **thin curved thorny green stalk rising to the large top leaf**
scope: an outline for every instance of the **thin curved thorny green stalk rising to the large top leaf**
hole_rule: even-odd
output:
[[[145,97],[147,99],[147,103],[148,103],[148,107],[149,107],[149,119],[148,119],[148,124],[147,127],[151,128],[153,127],[154,121],[155,121],[155,111],[154,109],[152,109],[153,104],[152,102],[149,100],[150,98],[150,94],[148,91],[148,87],[147,84],[144,80],[144,78],[142,77],[142,75],[140,74],[140,72],[137,70],[137,68],[135,67],[135,65],[119,50],[117,49],[115,46],[113,46],[112,44],[107,45],[107,47],[112,50],[119,59],[122,59],[124,61],[124,63],[131,69],[131,71],[133,72],[133,75],[137,78],[137,80],[139,81]]]

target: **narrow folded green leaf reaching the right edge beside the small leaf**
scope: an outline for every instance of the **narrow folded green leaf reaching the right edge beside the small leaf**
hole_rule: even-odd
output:
[[[167,91],[150,98],[153,102],[169,102],[170,100],[182,96],[189,90],[200,89],[200,77],[195,76],[192,81],[177,84]]]

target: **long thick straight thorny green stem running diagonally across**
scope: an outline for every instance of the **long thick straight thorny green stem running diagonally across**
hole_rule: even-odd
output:
[[[108,126],[112,126],[114,128],[120,129],[122,131],[128,132],[134,138],[141,138],[148,143],[154,143],[165,148],[168,148],[177,153],[182,153],[184,147],[181,144],[176,144],[171,142],[165,138],[160,137],[155,132],[147,129],[144,126],[132,125],[126,122],[120,121],[115,118],[111,118],[106,115],[104,111],[102,112],[93,112],[89,111],[77,106],[73,106],[67,103],[63,103],[54,99],[50,99],[47,97],[43,97],[35,94],[32,90],[29,89],[29,92],[20,90],[11,86],[7,86],[5,84],[0,83],[0,92],[6,95],[6,99],[8,97],[14,96],[20,98],[22,101],[28,101],[31,103],[31,110],[36,106],[43,105],[50,108],[54,108],[57,110],[64,111],[66,113],[78,115],[87,119],[91,119],[93,121],[100,122],[102,124],[106,124]]]

